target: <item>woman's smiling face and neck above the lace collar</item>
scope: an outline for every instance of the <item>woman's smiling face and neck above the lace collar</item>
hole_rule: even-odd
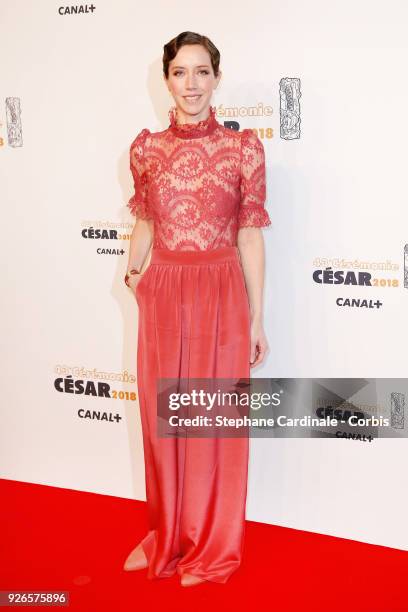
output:
[[[165,75],[164,75],[165,76]],[[208,115],[211,96],[221,78],[214,76],[210,54],[202,45],[183,45],[169,64],[165,81],[183,123],[194,123]]]

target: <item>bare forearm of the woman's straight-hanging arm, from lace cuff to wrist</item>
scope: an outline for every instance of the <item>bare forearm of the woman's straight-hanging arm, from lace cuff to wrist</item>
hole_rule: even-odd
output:
[[[265,245],[262,229],[243,227],[238,231],[237,245],[248,293],[251,321],[262,321],[265,274]]]

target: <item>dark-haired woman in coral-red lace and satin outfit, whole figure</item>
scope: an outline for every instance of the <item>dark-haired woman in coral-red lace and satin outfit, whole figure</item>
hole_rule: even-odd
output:
[[[158,378],[249,378],[262,323],[265,159],[210,106],[220,54],[183,32],[164,46],[170,125],[130,146],[136,216],[126,283],[139,305],[137,375],[149,529],[124,569],[225,583],[243,550],[248,438],[157,436]],[[150,246],[150,265],[140,270]]]

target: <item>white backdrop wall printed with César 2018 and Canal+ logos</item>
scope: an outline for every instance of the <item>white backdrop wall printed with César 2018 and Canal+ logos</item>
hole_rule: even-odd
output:
[[[406,3],[70,6],[85,12],[53,0],[0,7],[1,476],[145,499],[137,306],[122,280],[128,150],[143,127],[168,126],[162,48],[184,30],[219,47],[213,103],[239,109],[239,128],[265,146],[271,350],[253,376],[405,377]],[[280,133],[284,78],[300,84],[294,139]],[[21,134],[8,129],[18,104]],[[271,114],[245,116],[258,105]],[[397,284],[313,281],[343,259]],[[377,274],[379,262],[391,265]],[[339,296],[382,306],[339,307]],[[253,439],[247,518],[408,549],[406,451],[405,439]]]

